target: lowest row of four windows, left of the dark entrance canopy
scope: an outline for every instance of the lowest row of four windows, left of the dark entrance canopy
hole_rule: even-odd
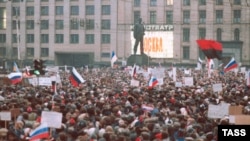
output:
[[[0,57],[6,57],[7,51],[5,47],[0,47]],[[18,56],[17,47],[13,47],[11,50],[12,56]],[[34,48],[27,47],[26,54],[27,57],[34,57]],[[40,57],[48,57],[49,56],[49,48],[40,48]]]

